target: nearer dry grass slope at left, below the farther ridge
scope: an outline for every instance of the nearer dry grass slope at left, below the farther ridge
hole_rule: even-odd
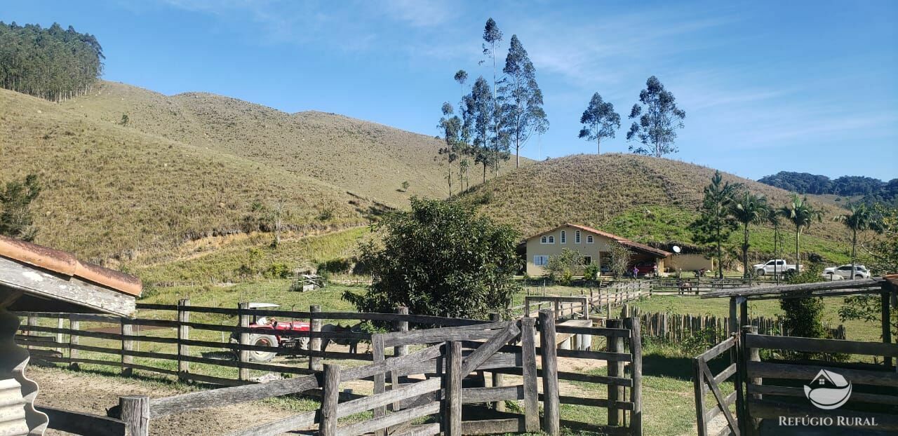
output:
[[[40,174],[37,242],[101,261],[237,231],[256,201],[283,197],[286,224],[299,230],[362,225],[379,207],[320,180],[5,90],[0,166],[2,181]],[[321,219],[324,211],[330,219]]]

